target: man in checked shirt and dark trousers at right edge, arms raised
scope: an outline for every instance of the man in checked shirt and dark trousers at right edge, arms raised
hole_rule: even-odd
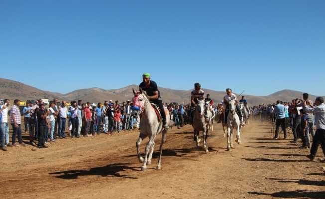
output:
[[[311,106],[308,107],[307,105]],[[322,97],[315,99],[315,106],[309,101],[304,101],[304,110],[308,113],[314,113],[316,121],[316,133],[313,137],[313,144],[311,148],[311,154],[307,157],[310,160],[314,160],[318,146],[321,144],[323,154],[325,156],[325,105]]]

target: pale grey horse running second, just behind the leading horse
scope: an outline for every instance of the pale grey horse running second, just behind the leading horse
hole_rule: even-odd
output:
[[[199,100],[197,106],[193,113],[193,123],[192,126],[194,128],[194,141],[196,142],[196,146],[199,146],[200,139],[198,138],[200,131],[203,132],[203,148],[205,152],[209,152],[208,144],[207,144],[207,136],[208,136],[208,127],[207,123],[205,122],[204,117],[204,100]]]

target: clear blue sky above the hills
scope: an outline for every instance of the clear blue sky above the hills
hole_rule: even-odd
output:
[[[325,0],[1,0],[0,77],[325,95]]]

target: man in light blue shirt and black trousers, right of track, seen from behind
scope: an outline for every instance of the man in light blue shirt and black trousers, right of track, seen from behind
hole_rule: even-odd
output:
[[[275,127],[275,136],[273,139],[279,139],[279,127],[283,130],[284,138],[287,139],[287,128],[286,128],[286,110],[284,105],[277,101],[277,104],[274,106],[274,115],[276,118],[276,127]]]

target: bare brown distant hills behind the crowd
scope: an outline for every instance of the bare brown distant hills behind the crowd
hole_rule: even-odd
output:
[[[7,80],[0,78],[0,98],[9,99],[20,99],[20,100],[35,100],[39,98],[58,98],[59,100],[83,100],[83,102],[103,102],[105,100],[131,100],[133,97],[132,88],[138,89],[137,85],[129,85],[120,89],[101,89],[101,88],[88,88],[78,89],[67,94],[54,93],[50,91],[43,91],[32,86],[28,86],[21,82]],[[175,90],[168,88],[159,88],[164,103],[178,102],[178,103],[189,103],[190,102],[190,90]],[[205,94],[210,94],[211,98],[216,102],[220,103],[225,95],[224,91],[214,91],[205,89]],[[253,96],[245,95],[250,105],[255,104],[270,104],[275,103],[276,100],[291,101],[295,98],[302,98],[303,92],[293,90],[281,90],[270,94],[268,96]],[[310,95],[310,99],[314,100],[316,96]]]

